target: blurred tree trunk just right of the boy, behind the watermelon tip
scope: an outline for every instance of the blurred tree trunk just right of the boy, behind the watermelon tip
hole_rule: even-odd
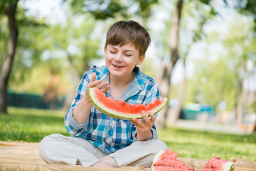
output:
[[[183,0],[178,0],[176,5],[176,10],[173,15],[172,27],[170,28],[170,38],[169,38],[169,47],[171,51],[170,62],[167,65],[162,64],[160,68],[159,76],[159,89],[160,97],[169,97],[169,88],[170,88],[170,76],[172,75],[173,67],[175,66],[179,56],[178,56],[178,30],[180,27],[180,18],[181,18],[181,9],[182,9]],[[168,105],[164,107],[159,112],[157,118],[157,128],[166,127],[166,119],[168,116]]]

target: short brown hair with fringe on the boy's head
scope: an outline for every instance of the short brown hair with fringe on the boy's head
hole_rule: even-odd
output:
[[[148,31],[135,21],[119,21],[108,28],[106,48],[108,44],[123,46],[128,42],[131,42],[139,50],[141,56],[147,51],[151,38]]]

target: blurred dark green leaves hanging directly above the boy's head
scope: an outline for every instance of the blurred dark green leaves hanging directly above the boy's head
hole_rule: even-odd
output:
[[[71,0],[71,10],[74,14],[91,13],[96,19],[123,18],[129,19],[132,15],[147,18],[151,15],[151,8],[158,0],[133,0],[133,1],[94,1]],[[132,11],[132,12],[131,12]]]

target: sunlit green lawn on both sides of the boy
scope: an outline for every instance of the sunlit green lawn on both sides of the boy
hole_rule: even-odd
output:
[[[64,127],[63,111],[8,108],[0,115],[0,140],[39,142],[51,133],[69,136]],[[210,159],[212,156],[231,160],[245,158],[256,161],[256,134],[232,135],[168,127],[159,132],[159,139],[179,157]]]

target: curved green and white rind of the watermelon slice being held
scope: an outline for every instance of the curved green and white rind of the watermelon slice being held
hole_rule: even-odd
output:
[[[131,120],[133,118],[137,118],[137,119],[142,119],[143,116],[141,115],[141,113],[137,113],[137,114],[131,114],[131,113],[120,113],[117,111],[113,111],[112,109],[108,109],[107,107],[104,106],[104,104],[100,103],[99,101],[97,101],[97,98],[94,96],[94,89],[95,88],[89,88],[88,89],[88,95],[90,98],[90,101],[92,103],[92,105],[94,105],[94,107],[100,111],[101,113],[116,118],[116,119],[122,119],[122,120]],[[168,98],[164,97],[164,99],[162,99],[163,103],[161,103],[160,105],[158,105],[156,108],[152,109],[151,111],[156,114],[157,112],[161,111],[162,108],[164,108],[164,106],[166,105]],[[147,116],[149,116],[149,114],[147,113]]]

